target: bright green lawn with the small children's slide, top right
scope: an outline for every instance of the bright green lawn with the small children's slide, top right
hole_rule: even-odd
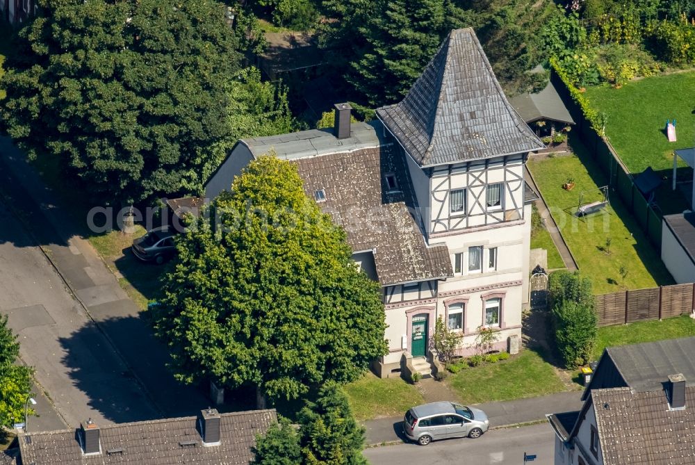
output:
[[[586,95],[607,115],[606,135],[630,172],[671,170],[673,149],[695,145],[695,72],[588,88]],[[676,119],[678,142],[664,133],[669,119]]]

